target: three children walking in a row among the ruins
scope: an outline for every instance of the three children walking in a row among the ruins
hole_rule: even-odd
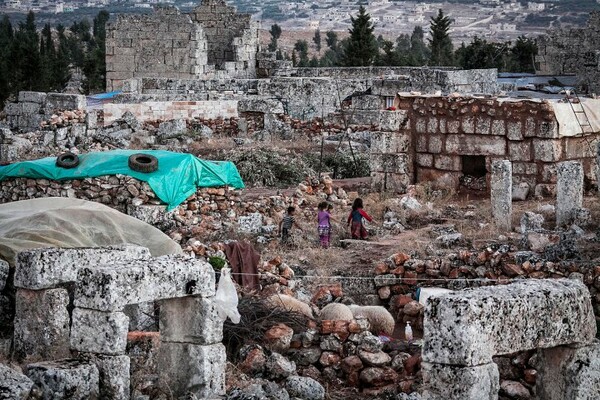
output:
[[[331,223],[337,222],[332,217],[331,212],[333,211],[333,205],[326,201],[319,203],[319,213],[317,214],[317,232],[319,234],[319,242],[323,248],[328,248],[331,244]],[[300,225],[296,222],[294,217],[296,209],[292,206],[288,207],[286,215],[279,223],[279,234],[281,236],[281,243],[287,244],[290,239],[290,231],[292,227],[296,227],[303,230]],[[346,224],[350,228],[350,235],[352,239],[366,240],[368,237],[367,230],[363,224],[363,218],[369,222],[373,221],[373,218],[365,210],[363,210],[363,201],[361,198],[357,198],[352,203],[352,211],[348,215]]]

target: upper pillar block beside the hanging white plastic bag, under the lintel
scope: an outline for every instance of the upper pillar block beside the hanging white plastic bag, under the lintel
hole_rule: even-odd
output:
[[[223,340],[223,321],[213,299],[182,297],[160,302],[163,342],[215,344]]]

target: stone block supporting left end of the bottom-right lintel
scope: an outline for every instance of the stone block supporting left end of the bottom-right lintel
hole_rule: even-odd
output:
[[[474,367],[423,363],[423,400],[497,400],[500,374],[494,363]]]

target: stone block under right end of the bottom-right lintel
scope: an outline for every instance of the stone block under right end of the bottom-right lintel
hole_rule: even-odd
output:
[[[544,400],[587,400],[600,398],[600,343],[572,348],[566,346],[538,352],[536,388]]]

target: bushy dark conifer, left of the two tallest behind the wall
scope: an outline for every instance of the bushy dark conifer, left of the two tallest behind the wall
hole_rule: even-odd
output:
[[[356,18],[350,17],[350,21],[352,28],[344,48],[343,64],[347,67],[372,65],[377,57],[378,48],[373,35],[375,26],[371,22],[371,16],[360,6]]]

